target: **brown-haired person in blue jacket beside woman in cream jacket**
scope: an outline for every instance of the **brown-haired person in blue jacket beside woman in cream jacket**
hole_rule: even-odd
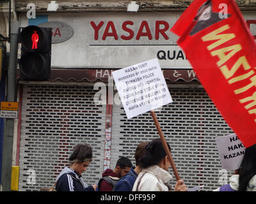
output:
[[[131,168],[129,173],[125,174],[124,177],[122,177],[116,184],[115,186],[115,191],[132,191],[133,184],[135,180],[138,177],[138,174],[141,171],[140,167],[140,160],[141,157],[143,157],[146,153],[146,145],[147,142],[141,142],[138,147],[136,148],[135,151],[135,161],[136,161],[136,166],[135,168]]]

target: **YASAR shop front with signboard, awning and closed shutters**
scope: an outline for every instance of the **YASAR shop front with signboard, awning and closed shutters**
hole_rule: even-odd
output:
[[[220,186],[215,138],[233,131],[170,32],[179,16],[179,12],[56,13],[34,22],[54,24],[56,41],[49,80],[23,81],[18,74],[19,191],[51,186],[77,143],[93,147],[93,161],[83,175],[87,184],[97,183],[106,168],[115,168],[120,156],[135,165],[136,146],[158,134],[150,113],[127,119],[112,72],[153,58],[159,61],[173,99],[156,115],[180,178],[188,187]],[[250,11],[244,16],[253,19]],[[26,16],[20,18],[22,26],[33,23]]]

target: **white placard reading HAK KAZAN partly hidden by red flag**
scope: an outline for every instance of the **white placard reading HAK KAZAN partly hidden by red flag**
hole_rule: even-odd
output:
[[[220,161],[223,169],[237,170],[244,157],[244,145],[236,134],[218,136],[216,139]]]

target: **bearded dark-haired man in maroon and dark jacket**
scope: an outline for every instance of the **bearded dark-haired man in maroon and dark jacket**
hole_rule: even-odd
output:
[[[102,173],[102,178],[98,183],[98,191],[113,191],[118,180],[127,174],[132,167],[131,160],[127,157],[121,157],[116,162],[114,170],[106,169]]]

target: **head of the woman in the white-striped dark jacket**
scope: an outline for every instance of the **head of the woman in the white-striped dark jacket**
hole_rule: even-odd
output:
[[[76,145],[69,161],[70,167],[81,175],[92,161],[92,147],[86,143]]]

